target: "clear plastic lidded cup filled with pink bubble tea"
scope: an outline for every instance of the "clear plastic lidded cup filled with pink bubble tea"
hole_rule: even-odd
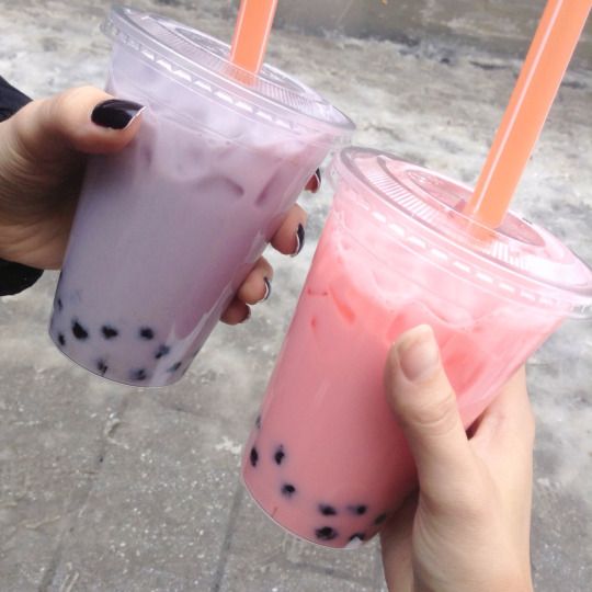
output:
[[[346,148],[330,172],[333,206],[242,475],[276,523],[342,548],[415,486],[383,386],[398,335],[433,328],[468,426],[563,319],[591,314],[592,271],[513,213],[478,240],[468,187],[390,155]]]

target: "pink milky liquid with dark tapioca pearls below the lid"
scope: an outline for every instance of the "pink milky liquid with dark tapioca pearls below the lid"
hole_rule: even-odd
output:
[[[292,533],[353,547],[415,485],[383,386],[397,337],[431,325],[468,425],[560,319],[394,248],[382,223],[340,191],[247,444],[243,479]]]

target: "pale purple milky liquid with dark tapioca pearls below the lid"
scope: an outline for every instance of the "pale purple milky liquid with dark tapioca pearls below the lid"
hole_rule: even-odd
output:
[[[110,91],[149,109],[132,145],[89,163],[50,335],[91,372],[161,386],[187,369],[328,148],[116,59]]]

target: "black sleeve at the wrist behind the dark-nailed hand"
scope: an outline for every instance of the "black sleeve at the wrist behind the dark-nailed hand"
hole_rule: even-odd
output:
[[[11,87],[0,76],[0,122],[8,119],[30,101],[29,96]],[[42,273],[42,270],[0,259],[0,296],[26,289],[41,277]]]

